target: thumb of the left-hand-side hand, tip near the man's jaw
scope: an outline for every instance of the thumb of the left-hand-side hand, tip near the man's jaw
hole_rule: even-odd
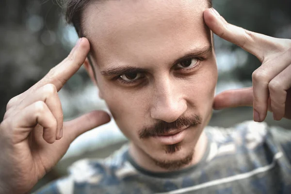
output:
[[[82,133],[94,129],[110,121],[110,116],[104,111],[93,111],[64,123],[64,138],[72,142]]]

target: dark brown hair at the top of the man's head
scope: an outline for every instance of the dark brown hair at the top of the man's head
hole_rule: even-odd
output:
[[[83,36],[82,31],[82,12],[93,0],[66,0],[65,19],[72,24],[79,37]],[[212,7],[212,0],[207,0],[209,8]]]

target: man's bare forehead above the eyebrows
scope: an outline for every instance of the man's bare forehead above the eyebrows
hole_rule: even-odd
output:
[[[96,0],[84,11],[84,35],[99,59],[175,55],[210,46],[208,6],[207,0]]]

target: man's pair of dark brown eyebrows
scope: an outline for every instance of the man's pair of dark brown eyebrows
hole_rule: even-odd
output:
[[[199,57],[201,55],[205,55],[212,50],[212,45],[204,48],[194,49],[190,52],[184,54],[183,57],[178,58],[173,64],[178,64],[183,60],[189,58]],[[100,73],[104,76],[118,76],[125,73],[136,73],[136,72],[146,72],[148,69],[141,67],[133,67],[133,66],[117,66],[117,67],[109,67],[107,69],[102,70]]]

